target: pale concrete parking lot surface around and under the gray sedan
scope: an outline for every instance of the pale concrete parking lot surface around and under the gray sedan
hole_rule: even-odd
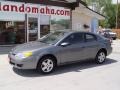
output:
[[[0,90],[120,90],[120,40],[112,46],[113,53],[102,65],[81,62],[58,67],[49,75],[12,68],[9,48],[0,47]]]

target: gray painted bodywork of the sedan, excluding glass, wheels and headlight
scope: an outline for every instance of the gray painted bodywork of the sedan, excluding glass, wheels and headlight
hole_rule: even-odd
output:
[[[23,64],[23,67],[21,68],[16,66],[14,67],[19,69],[35,69],[40,58],[47,54],[54,55],[57,59],[57,65],[61,65],[61,64],[86,60],[86,59],[94,59],[98,51],[102,48],[104,48],[107,51],[107,55],[109,55],[112,52],[112,47],[107,39],[90,32],[88,33],[95,35],[97,37],[96,41],[82,42],[82,43],[71,44],[66,47],[63,47],[60,45],[60,43],[62,43],[62,40],[68,37],[70,34],[72,33],[85,34],[87,32],[69,31],[67,33],[68,34],[65,34],[65,36],[62,37],[54,45],[49,45],[35,41],[15,47],[9,53],[9,57],[11,58],[12,62],[16,64]],[[12,53],[17,54],[19,52],[25,52],[25,51],[32,51],[33,55],[29,58],[20,59],[20,58],[16,58],[12,54]]]

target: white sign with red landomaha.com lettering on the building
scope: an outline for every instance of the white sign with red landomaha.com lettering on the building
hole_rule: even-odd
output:
[[[25,4],[18,2],[0,2],[1,12],[15,12],[15,13],[31,13],[31,14],[46,14],[46,15],[61,15],[70,16],[70,10],[62,7],[55,6],[42,6],[37,4]]]

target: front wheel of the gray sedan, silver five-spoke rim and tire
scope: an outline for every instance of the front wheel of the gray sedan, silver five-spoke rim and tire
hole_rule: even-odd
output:
[[[55,59],[53,57],[46,56],[40,59],[36,69],[42,74],[49,74],[54,71],[55,67]]]

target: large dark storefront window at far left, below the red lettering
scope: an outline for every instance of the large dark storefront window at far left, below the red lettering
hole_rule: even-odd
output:
[[[25,42],[24,22],[0,21],[0,45]]]

